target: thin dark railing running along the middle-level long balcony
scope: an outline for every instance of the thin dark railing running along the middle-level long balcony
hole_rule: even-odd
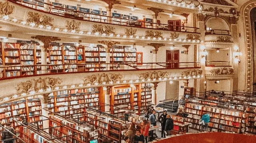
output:
[[[0,80],[28,77],[36,75],[51,75],[62,73],[82,73],[97,71],[138,71],[200,68],[199,62],[167,62],[167,63],[122,63],[122,64],[48,64],[48,65],[15,65],[0,66]]]

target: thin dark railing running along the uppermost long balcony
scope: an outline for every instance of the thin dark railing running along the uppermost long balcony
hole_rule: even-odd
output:
[[[23,5],[28,8],[32,8],[34,10],[48,12],[50,14],[54,14],[58,16],[63,16],[65,18],[74,18],[74,19],[84,20],[84,21],[115,24],[115,25],[122,25],[122,26],[131,26],[131,27],[137,27],[137,28],[199,33],[199,28],[195,28],[195,27],[176,26],[176,25],[170,25],[170,24],[144,22],[139,20],[128,20],[124,18],[110,17],[110,16],[100,15],[100,14],[99,15],[91,14],[91,13],[86,13],[79,10],[63,8],[61,6],[55,6],[55,5],[44,3],[38,0],[31,0],[31,2],[26,2],[24,0],[8,0],[8,1],[14,2],[19,5]],[[42,5],[39,5],[39,3]]]

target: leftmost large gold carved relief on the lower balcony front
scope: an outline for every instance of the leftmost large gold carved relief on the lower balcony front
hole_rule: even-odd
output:
[[[47,88],[54,88],[57,85],[60,85],[62,80],[59,78],[39,78],[39,79],[31,79],[25,82],[21,82],[17,85],[16,91],[28,93],[29,91],[39,91],[40,89],[46,90]]]

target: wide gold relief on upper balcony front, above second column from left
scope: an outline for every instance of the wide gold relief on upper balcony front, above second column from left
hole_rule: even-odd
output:
[[[92,26],[92,33],[99,33],[99,34],[116,34],[115,31],[116,28],[113,26],[103,26],[103,25],[98,25],[98,24],[93,24]]]

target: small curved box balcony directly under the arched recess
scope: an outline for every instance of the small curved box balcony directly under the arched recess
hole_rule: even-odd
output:
[[[206,30],[205,44],[206,49],[229,49],[233,39],[229,30]]]

